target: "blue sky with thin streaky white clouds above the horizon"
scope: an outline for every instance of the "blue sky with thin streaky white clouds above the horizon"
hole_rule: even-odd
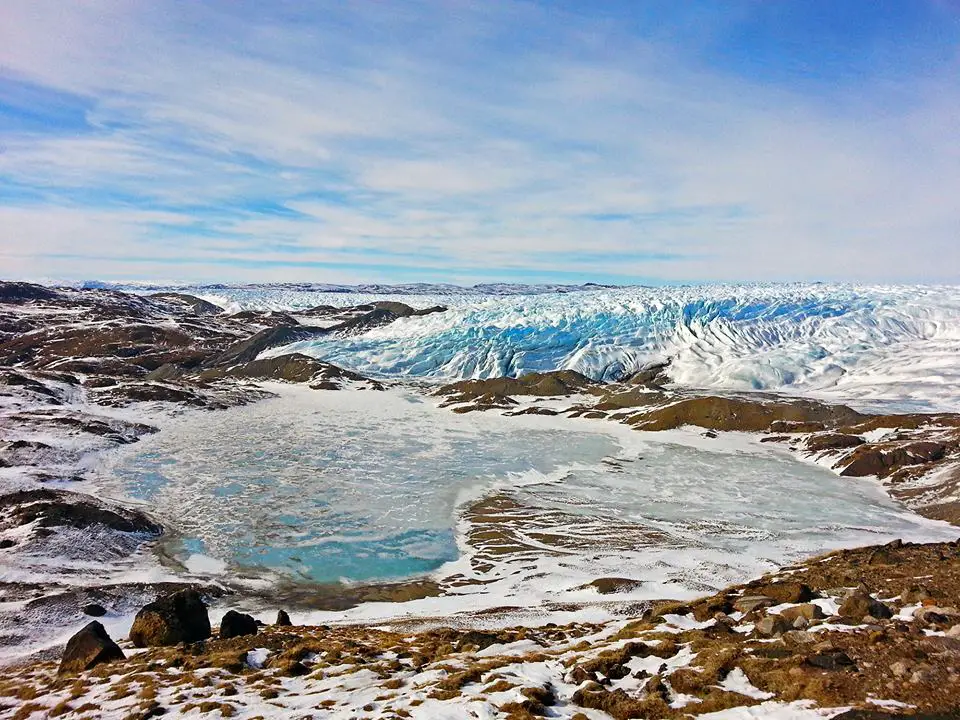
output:
[[[960,282],[960,0],[0,0],[0,277]]]

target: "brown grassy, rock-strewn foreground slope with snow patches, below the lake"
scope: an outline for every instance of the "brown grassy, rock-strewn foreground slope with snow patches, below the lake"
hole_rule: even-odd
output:
[[[835,612],[848,601],[889,616]],[[960,541],[894,542],[609,624],[278,624],[150,648],[70,679],[56,663],[33,664],[0,680],[0,707],[15,703],[24,720],[79,708],[302,717],[305,702],[321,716],[370,718],[679,720],[730,708],[749,711],[734,717],[956,718],[958,605]]]

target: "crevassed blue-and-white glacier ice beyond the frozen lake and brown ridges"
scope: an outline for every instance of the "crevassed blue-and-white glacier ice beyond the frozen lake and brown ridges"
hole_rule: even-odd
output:
[[[438,381],[558,368],[611,380],[670,359],[670,377],[686,386],[960,408],[956,287],[706,286],[419,300],[434,299],[452,307],[267,354],[302,352],[368,375]],[[358,297],[310,300],[343,305]]]

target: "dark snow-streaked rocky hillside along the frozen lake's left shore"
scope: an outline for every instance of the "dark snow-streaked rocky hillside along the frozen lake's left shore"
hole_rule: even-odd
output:
[[[254,402],[271,395],[258,385],[268,380],[381,389],[304,355],[257,356],[438,311],[387,302],[226,314],[175,293],[0,283],[0,646],[29,647],[37,628],[70,627],[97,607],[132,612],[184,586],[129,581],[164,528],[91,494],[100,458],[157,431],[145,418]]]

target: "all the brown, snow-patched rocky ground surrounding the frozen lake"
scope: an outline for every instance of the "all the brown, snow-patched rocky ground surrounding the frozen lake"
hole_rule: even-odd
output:
[[[0,644],[29,645],[45,624],[84,628],[62,659],[60,647],[45,647],[10,669],[0,716],[674,718],[750,706],[752,714],[718,717],[958,717],[956,544],[834,553],[700,601],[632,607],[630,621],[495,632],[470,629],[490,627],[490,616],[457,618],[454,629],[445,618],[295,628],[284,616],[263,626],[240,613],[217,631],[206,605],[229,605],[230,588],[129,581],[125,569],[164,528],[144,508],[92,493],[87,476],[100,457],[156,432],[145,419],[268,397],[264,381],[382,389],[305,355],[260,356],[442,311],[384,302],[226,314],[177,293],[0,283]],[[960,416],[706,395],[669,386],[664,369],[617,383],[559,371],[436,392],[458,413],[561,415],[650,432],[695,426],[708,438],[759,433],[839,475],[878,478],[915,512],[960,523]],[[471,542],[509,550],[514,540],[498,518],[517,508],[490,498],[470,512],[479,533]],[[630,582],[594,587],[615,601]],[[305,606],[309,596],[346,607],[441,591],[425,581],[302,596]],[[129,638],[115,643],[93,620],[106,608],[139,611]]]

